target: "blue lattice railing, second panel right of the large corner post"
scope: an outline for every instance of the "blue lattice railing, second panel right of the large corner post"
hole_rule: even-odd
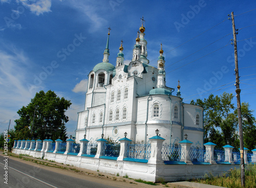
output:
[[[209,162],[209,152],[204,148],[191,147],[189,157],[193,162]]]

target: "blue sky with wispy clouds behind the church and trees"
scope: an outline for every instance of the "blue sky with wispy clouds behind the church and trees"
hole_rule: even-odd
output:
[[[232,23],[227,19],[233,11],[236,28],[243,28],[237,35],[241,101],[256,110],[254,1],[0,2],[0,132],[8,129],[10,119],[14,127],[16,112],[36,92],[52,90],[71,100],[66,126],[74,134],[88,74],[103,59],[108,27],[110,63],[116,65],[122,39],[128,64],[142,16],[150,65],[156,67],[162,43],[166,85],[177,91],[179,79],[181,96],[189,103],[210,93],[235,95]]]

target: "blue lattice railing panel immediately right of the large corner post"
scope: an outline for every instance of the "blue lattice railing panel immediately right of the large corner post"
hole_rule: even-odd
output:
[[[162,159],[164,161],[181,161],[184,155],[184,149],[181,145],[163,144]]]

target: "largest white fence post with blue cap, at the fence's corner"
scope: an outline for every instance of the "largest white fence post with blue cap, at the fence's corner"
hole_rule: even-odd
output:
[[[150,159],[148,159],[148,164],[157,164],[157,163],[163,163],[162,159],[162,146],[163,141],[165,139],[161,136],[153,136],[150,138],[151,142],[151,154]]]

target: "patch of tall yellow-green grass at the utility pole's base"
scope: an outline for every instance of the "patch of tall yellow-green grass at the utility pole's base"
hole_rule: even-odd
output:
[[[205,175],[203,179],[193,179],[190,181],[230,188],[240,188],[241,171],[240,169],[234,168],[230,169],[223,176],[213,176],[209,173],[209,175]],[[256,187],[256,165],[247,164],[245,169],[245,188],[254,187]]]

